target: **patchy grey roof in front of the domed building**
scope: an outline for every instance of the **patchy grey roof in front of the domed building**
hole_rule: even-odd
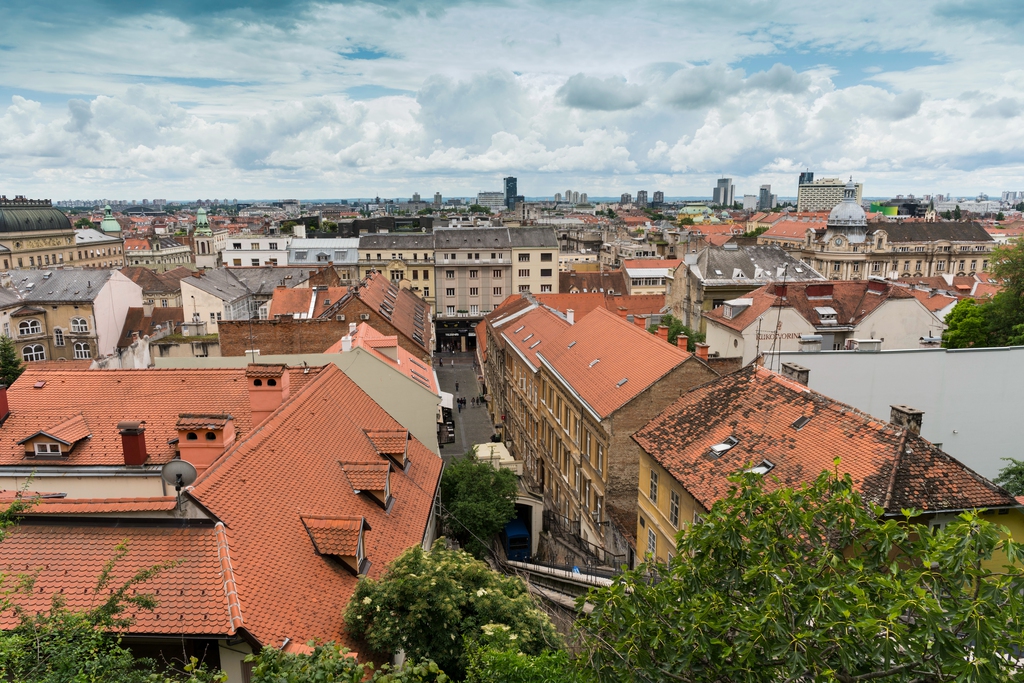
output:
[[[784,273],[783,266],[786,267]],[[771,283],[824,280],[817,270],[775,245],[740,246],[736,249],[708,247],[697,254],[691,267],[706,285]]]

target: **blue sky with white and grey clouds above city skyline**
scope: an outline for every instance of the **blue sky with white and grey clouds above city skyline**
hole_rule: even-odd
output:
[[[1024,189],[1011,0],[35,0],[0,27],[8,197]]]

